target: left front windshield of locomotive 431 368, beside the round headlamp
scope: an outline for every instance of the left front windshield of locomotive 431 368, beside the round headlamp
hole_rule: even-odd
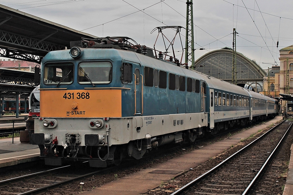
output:
[[[44,67],[44,84],[71,84],[74,78],[72,63],[47,63]]]

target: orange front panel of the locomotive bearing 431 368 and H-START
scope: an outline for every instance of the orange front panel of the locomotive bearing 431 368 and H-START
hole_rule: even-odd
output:
[[[121,90],[41,90],[40,117],[121,117]]]

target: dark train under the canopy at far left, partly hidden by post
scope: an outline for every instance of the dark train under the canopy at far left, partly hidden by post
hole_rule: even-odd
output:
[[[26,101],[26,102],[25,102]],[[16,113],[16,99],[13,98],[4,98],[2,99],[2,104],[4,105],[5,113]],[[25,109],[26,106],[26,109]],[[10,108],[10,109],[9,109]],[[20,99],[19,100],[19,113],[28,113],[28,99]]]

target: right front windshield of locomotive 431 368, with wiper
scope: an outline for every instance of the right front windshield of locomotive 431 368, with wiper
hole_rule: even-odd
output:
[[[80,84],[108,84],[112,80],[112,65],[110,62],[81,62],[77,79]]]

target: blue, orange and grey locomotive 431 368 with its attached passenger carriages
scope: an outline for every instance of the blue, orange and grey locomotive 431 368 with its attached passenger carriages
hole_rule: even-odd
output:
[[[117,165],[163,144],[195,142],[278,114],[275,99],[155,57],[131,41],[83,40],[84,47],[42,59],[31,141],[46,165]]]

